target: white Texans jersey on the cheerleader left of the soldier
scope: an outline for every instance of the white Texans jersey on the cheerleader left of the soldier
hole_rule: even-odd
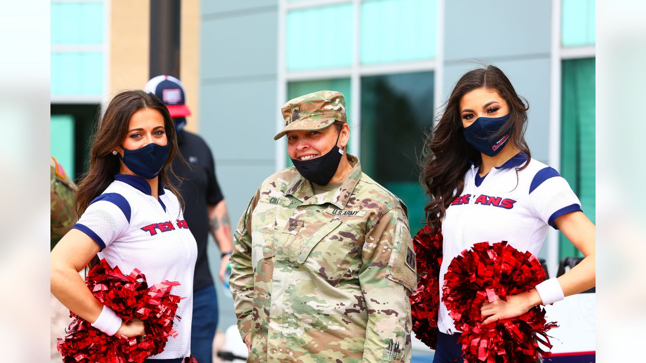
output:
[[[118,266],[129,275],[137,268],[149,285],[164,280],[181,285],[171,293],[185,297],[178,304],[173,328],[176,338],[169,337],[163,352],[150,358],[172,359],[191,353],[191,320],[193,315],[193,273],[197,246],[184,221],[180,203],[174,194],[160,185],[159,200],[151,195],[145,180],[117,174],[73,228],[87,234],[110,266]]]

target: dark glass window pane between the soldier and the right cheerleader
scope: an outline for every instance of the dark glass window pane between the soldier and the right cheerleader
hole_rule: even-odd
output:
[[[362,169],[406,203],[413,235],[428,202],[417,156],[433,121],[433,87],[433,72],[361,79]]]

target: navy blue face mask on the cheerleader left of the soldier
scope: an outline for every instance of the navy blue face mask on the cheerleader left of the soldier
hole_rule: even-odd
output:
[[[169,144],[164,146],[157,145],[156,143],[149,143],[145,147],[140,147],[136,150],[123,149],[123,156],[117,153],[125,166],[134,172],[140,178],[146,180],[153,179],[160,171],[163,164],[168,159]]]

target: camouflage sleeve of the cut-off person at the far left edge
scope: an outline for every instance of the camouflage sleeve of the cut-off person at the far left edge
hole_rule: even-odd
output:
[[[72,225],[76,223],[74,212],[74,190],[76,185],[65,174],[63,167],[57,163],[54,156],[50,160],[50,238],[51,246],[61,240]]]

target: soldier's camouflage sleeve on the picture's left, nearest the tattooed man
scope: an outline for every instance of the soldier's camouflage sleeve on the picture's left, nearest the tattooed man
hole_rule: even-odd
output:
[[[251,198],[244,214],[240,217],[233,236],[231,254],[231,278],[229,286],[233,294],[233,306],[238,319],[238,331],[244,337],[251,332],[251,310],[253,308],[253,265],[251,265],[251,213],[258,203],[260,190]]]

